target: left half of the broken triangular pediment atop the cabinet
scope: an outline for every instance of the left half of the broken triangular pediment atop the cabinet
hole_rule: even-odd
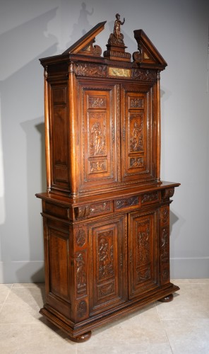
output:
[[[83,54],[83,55],[98,55],[100,47],[98,45],[93,46],[95,37],[104,29],[104,25],[107,21],[97,23],[95,27],[89,30],[83,37],[75,42],[71,47],[65,50],[62,54]],[[101,55],[101,52],[100,52]]]

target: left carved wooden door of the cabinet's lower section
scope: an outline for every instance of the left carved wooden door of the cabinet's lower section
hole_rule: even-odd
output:
[[[95,314],[126,301],[126,216],[90,225],[92,288],[90,312]]]

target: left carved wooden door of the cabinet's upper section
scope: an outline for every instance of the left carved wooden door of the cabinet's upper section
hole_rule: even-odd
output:
[[[80,83],[81,189],[97,189],[117,182],[117,135],[115,85]],[[118,146],[117,146],[118,145]],[[119,150],[120,152],[120,150]],[[118,154],[119,154],[118,152]]]

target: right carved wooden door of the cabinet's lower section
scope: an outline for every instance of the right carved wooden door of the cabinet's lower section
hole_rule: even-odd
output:
[[[158,285],[157,211],[129,215],[129,298]]]

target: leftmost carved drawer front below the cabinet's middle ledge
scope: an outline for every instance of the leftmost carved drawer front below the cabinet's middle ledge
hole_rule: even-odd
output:
[[[97,215],[108,214],[109,212],[113,212],[112,200],[107,202],[97,202],[94,204],[82,205],[80,207],[74,207],[75,219],[94,217]]]

